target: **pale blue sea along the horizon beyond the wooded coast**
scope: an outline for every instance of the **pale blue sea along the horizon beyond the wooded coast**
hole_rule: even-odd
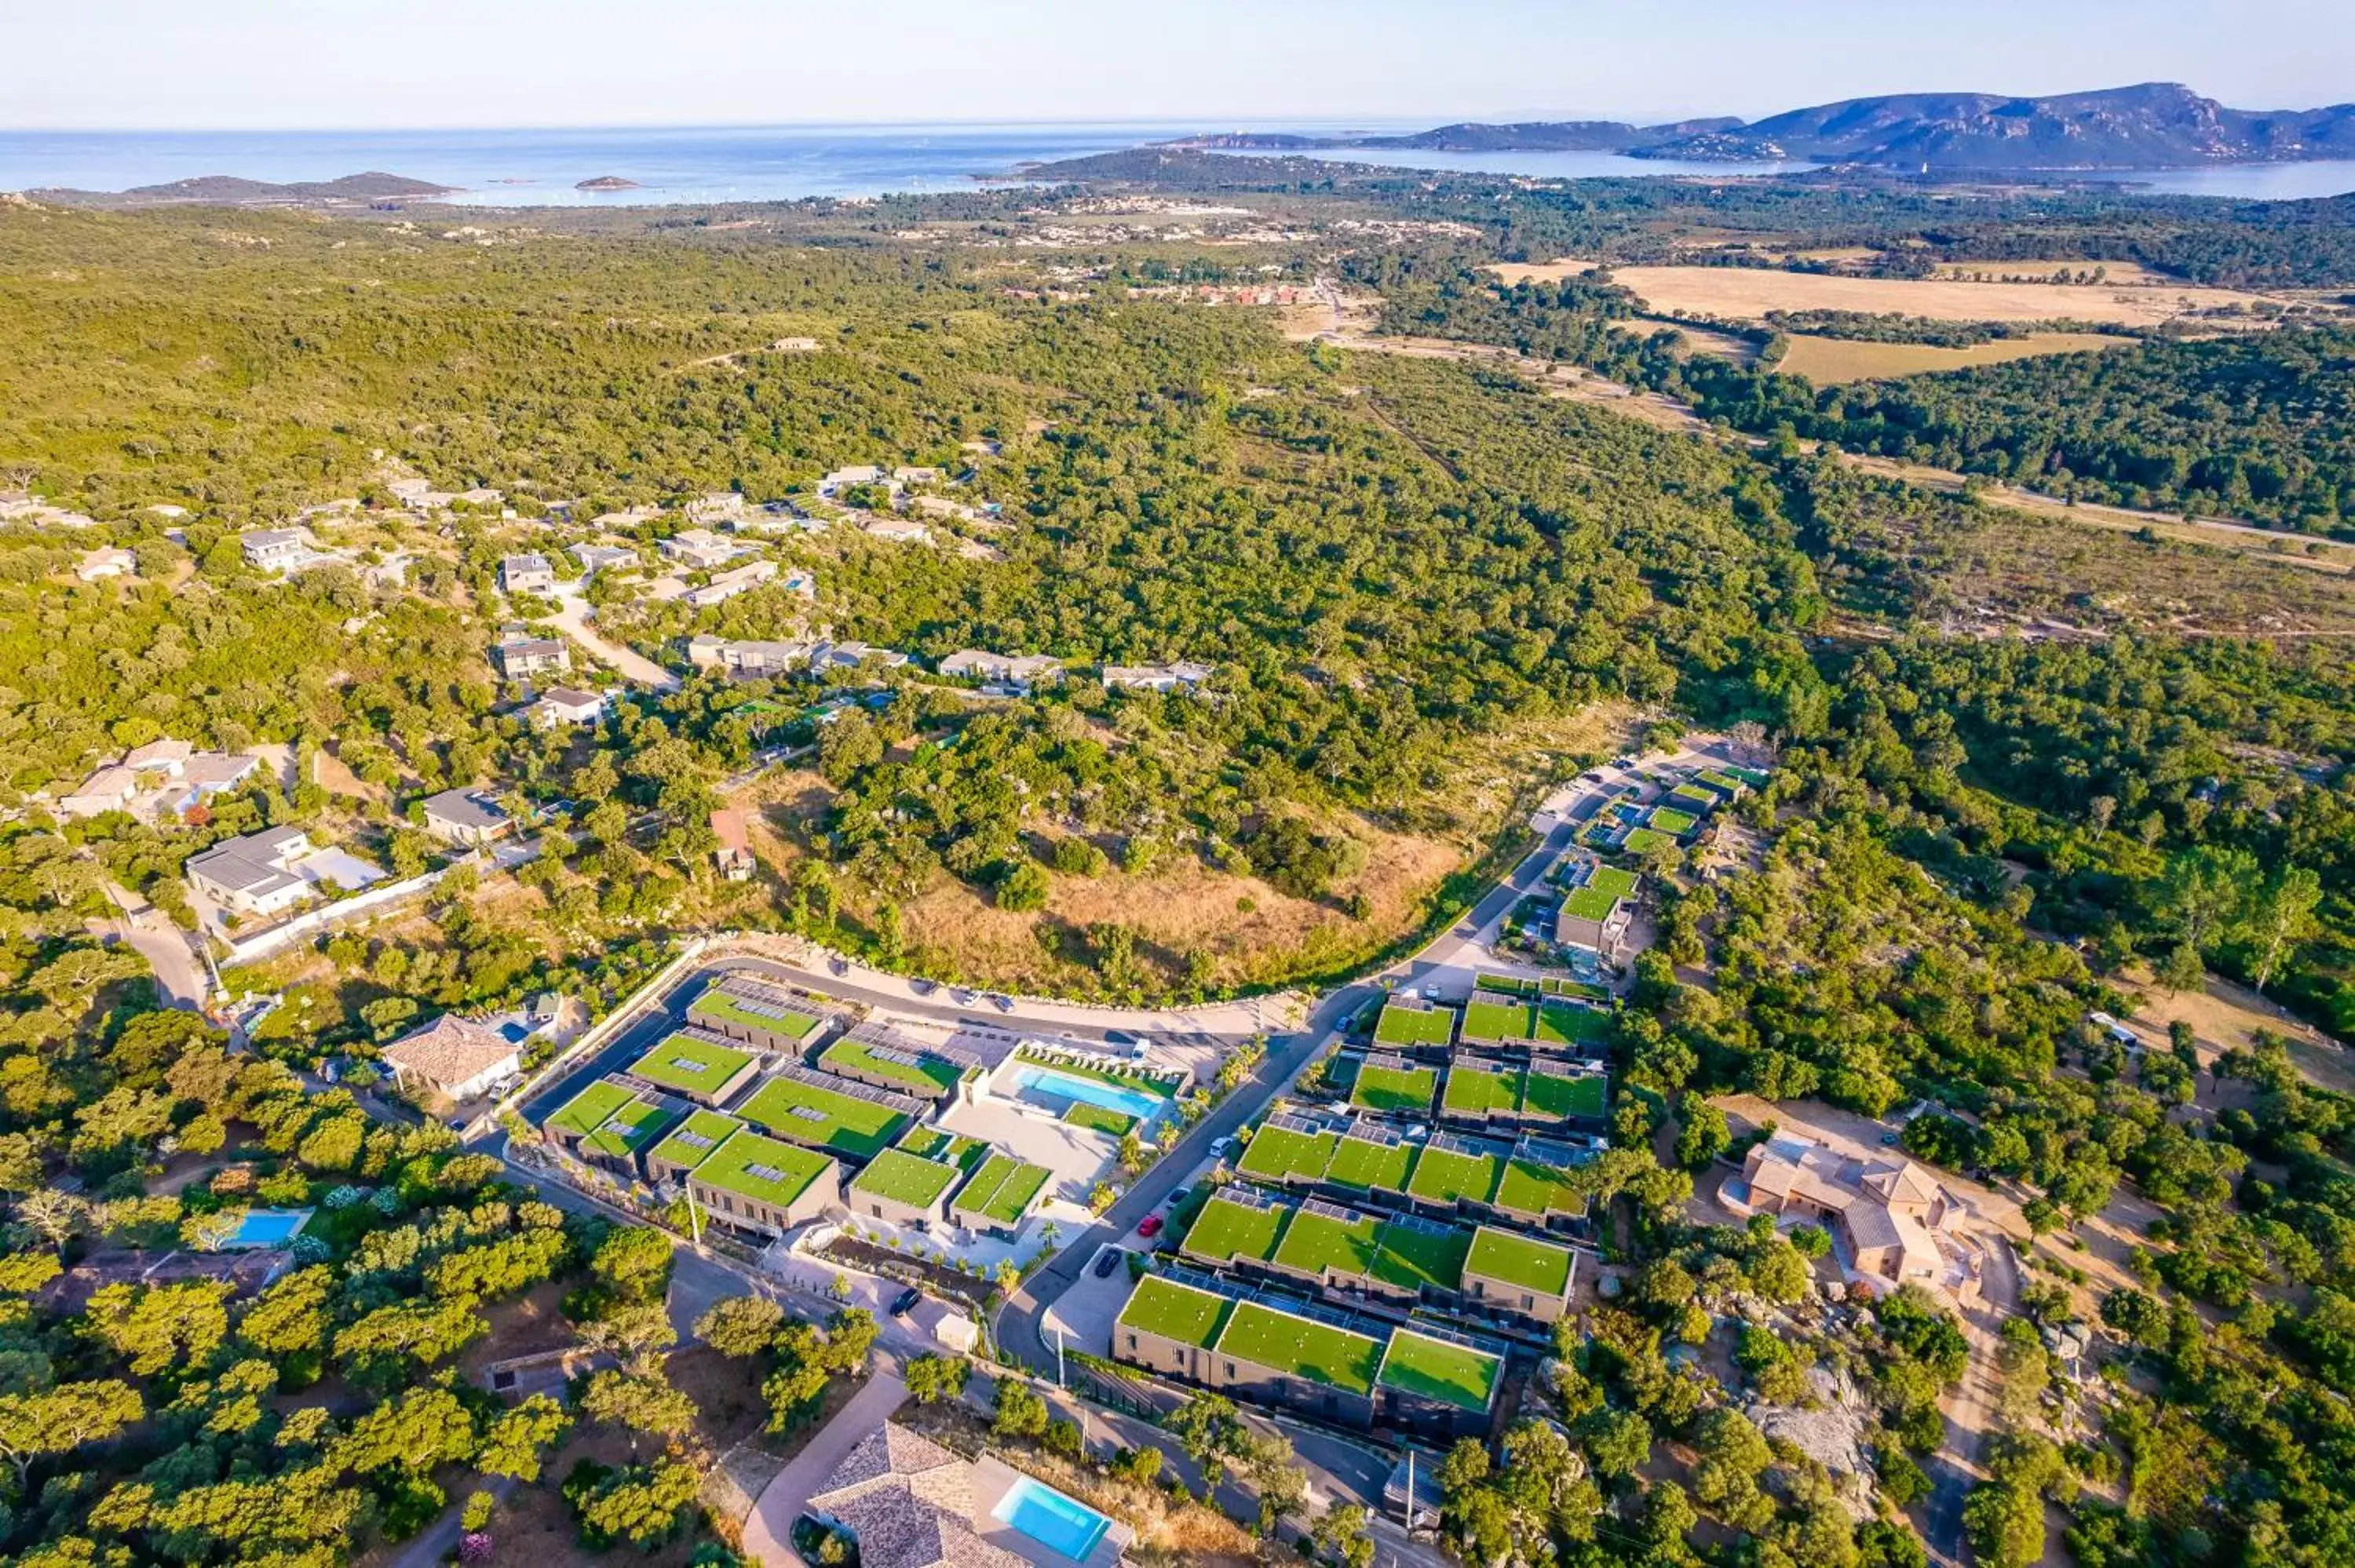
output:
[[[447,200],[483,207],[645,207],[768,202],[805,195],[970,191],[1020,179],[1027,162],[1116,153],[1201,134],[1173,122],[911,122],[730,125],[617,129],[436,132],[12,132],[0,129],[0,191],[68,186],[127,191],[205,174],[264,181],[334,179],[382,170],[452,186]],[[1283,125],[1309,137],[1389,134],[1392,125]],[[1286,155],[1286,153],[1258,153]],[[1660,174],[1783,174],[1799,162],[1677,162],[1618,153],[1422,153],[1319,148],[1335,162],[1535,179],[1644,179]],[[626,179],[626,191],[577,191],[584,179]],[[2145,191],[2287,200],[2355,191],[2355,162],[2240,165],[2096,174]]]

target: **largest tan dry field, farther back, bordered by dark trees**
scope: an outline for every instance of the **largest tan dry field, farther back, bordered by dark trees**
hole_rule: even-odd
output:
[[[1653,311],[1766,320],[1766,311],[1868,311],[1933,320],[2101,320],[2155,327],[2233,306],[2287,304],[2266,294],[2112,283],[1957,283],[1952,278],[1835,278],[1752,266],[1623,266],[1613,280]]]

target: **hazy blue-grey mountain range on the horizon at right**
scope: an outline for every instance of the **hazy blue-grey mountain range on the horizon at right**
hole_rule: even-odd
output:
[[[1187,148],[1316,148],[1425,153],[1627,153],[1689,160],[1809,160],[1903,172],[2181,170],[2225,162],[2355,158],[2355,104],[2225,108],[2181,82],[2049,99],[1992,92],[1903,92],[1795,108],[1766,120],[1540,120],[1441,125],[1411,137],[1194,137]]]

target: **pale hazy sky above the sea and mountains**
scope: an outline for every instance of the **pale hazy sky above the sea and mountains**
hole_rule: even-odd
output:
[[[1764,115],[2355,99],[2348,0],[0,0],[7,127]]]

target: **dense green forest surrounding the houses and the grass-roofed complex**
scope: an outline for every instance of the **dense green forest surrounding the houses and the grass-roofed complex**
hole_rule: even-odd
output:
[[[2183,271],[2216,278],[2329,271],[2343,242],[2313,240],[2336,233],[2313,205],[2258,219],[2108,195],[1710,198],[1646,181],[1517,195],[1498,219],[1493,195],[1479,224],[1500,242],[1583,235],[1613,254],[1698,214],[1858,240],[1936,217],[1938,254],[1990,259],[2075,233],[2082,254],[2176,247]],[[1010,217],[956,200],[940,217]],[[1477,207],[1444,181],[1331,200]],[[2051,483],[2058,466],[2079,487],[2233,497],[2315,530],[2355,504],[2339,478],[2343,337],[2145,344],[1818,393],[1634,337],[1608,283],[1500,290],[1472,261],[1366,250],[1347,275],[1389,297],[1392,330],[1594,365],[1762,436],[1832,433],[1802,419],[1837,410],[1858,428],[1842,440],[1964,469]],[[1206,259],[1203,275],[1229,264]],[[1754,869],[1663,864],[1660,939],[1616,1024],[1613,1149],[1594,1168],[1627,1290],[1564,1330],[1535,1394],[1559,1424],[1514,1427],[1502,1457],[1479,1443],[1448,1457],[1448,1540],[1467,1561],[1559,1568],[1924,1561],[1905,1507],[1929,1488],[1938,1398],[1966,1358],[1936,1304],[1900,1295],[1839,1335],[1738,1330],[1726,1387],[1679,1366],[1738,1307],[1799,1304],[1802,1245],[1827,1245],[1693,1220],[1691,1175],[1731,1147],[1707,1095],[1747,1090],[1865,1116],[1929,1102],[1905,1149],[2004,1184],[2039,1234],[2065,1238],[2120,1194],[2145,1205],[2134,1285],[2082,1314],[2070,1264],[2037,1255],[2021,1323],[2032,1340],[2098,1318],[2105,1391],[2065,1441],[2049,1436],[2039,1394],[2058,1373],[2006,1335],[2004,1380],[2025,1394],[1964,1519],[1976,1561],[2037,1561],[2044,1500],[2084,1568],[2355,1556],[2355,1102],[2306,1083],[2275,1041],[2202,1055],[2185,1029],[2129,1057],[2087,1024],[2124,1008],[2129,975],[2185,994],[2221,972],[2355,1029],[2343,655],[2327,636],[2195,636],[2174,600],[2077,603],[2197,577],[2185,598],[2240,629],[2324,617],[2331,584],[2094,542],[1795,443],[1663,431],[1495,367],[1286,344],[1265,315],[1119,285],[1187,266],[1119,259],[1107,287],[1043,301],[1003,290],[1003,257],[881,235],[608,224],[459,245],[382,221],[0,210],[0,450],[26,469],[9,483],[97,518],[0,530],[0,1549],[42,1568],[327,1566],[412,1535],[483,1476],[560,1481],[589,1547],[692,1533],[688,1417],[659,1373],[666,1245],[565,1217],[497,1161],[379,1123],[351,1088],[306,1088],[294,1069],[341,1059],[365,1088],[374,1048],[414,1019],[542,986],[603,1008],[704,923],[848,942],[845,888],[876,911],[860,937],[883,961],[907,954],[881,909],[930,878],[1036,909],[1048,878],[1097,876],[1107,850],[1123,873],[1201,857],[1333,897],[1356,845],[1319,824],[1427,826],[1495,737],[1616,699],[1667,735],[1754,727],[1778,765],[1738,808]],[[763,351],[789,334],[820,351]],[[615,636],[676,662],[692,631],[787,636],[822,617],[928,659],[968,645],[1081,666],[1199,659],[1215,671],[1203,692],[1072,683],[977,706],[914,673],[815,692],[692,676],[626,695],[577,737],[506,711],[487,584],[549,504],[761,499],[841,464],[956,464],[973,438],[1003,443],[975,478],[1006,509],[984,558],[815,534],[782,546],[817,567],[815,607],[777,586],[709,610],[615,596]],[[523,516],[396,525],[379,450],[443,487],[497,485]],[[2195,450],[2162,485],[2122,466]],[[363,499],[339,525],[353,539],[419,549],[405,586],[243,565],[236,527],[334,494]],[[177,542],[144,511],[155,501],[188,509]],[[650,546],[674,525],[622,537]],[[139,579],[73,582],[97,542],[137,551]],[[1966,572],[1997,549],[2030,563],[2084,549],[2112,577],[2004,605],[2077,636],[1943,631],[1985,607]],[[831,723],[803,713],[817,697],[841,704]],[[728,895],[702,824],[751,763],[747,699],[794,713],[784,739],[812,746],[831,796],[815,869]],[[283,742],[297,782],[160,826],[59,826],[26,798],[155,735]],[[313,782],[330,749],[370,793]],[[523,913],[485,913],[459,878],[417,923],[320,939],[294,963],[332,979],[294,986],[250,1055],[158,1010],[141,963],[89,930],[104,881],[172,906],[188,852],[264,822],[414,864],[407,805],[452,782],[568,803],[509,888]],[[1097,994],[1203,989],[1196,956],[1140,954],[1121,932],[1083,932],[1072,956]],[[61,1283],[137,1245],[203,1250],[254,1203],[325,1217],[301,1267],[259,1295],[198,1281],[85,1300]],[[504,1410],[450,1375],[487,1316],[535,1290],[619,1358],[619,1382]],[[857,1321],[824,1340],[716,1328],[768,1370],[777,1427],[857,1370],[871,1337]],[[1884,1504],[1863,1519],[1738,1408],[1806,1401],[1811,1366],[1870,1406]],[[539,1481],[575,1429],[603,1431],[612,1462]]]

